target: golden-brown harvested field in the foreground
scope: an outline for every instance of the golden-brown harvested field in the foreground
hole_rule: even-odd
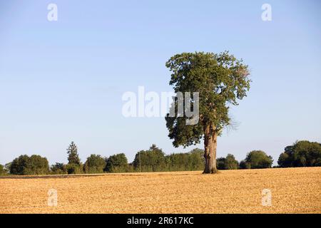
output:
[[[56,207],[48,206],[52,188]],[[263,189],[272,191],[270,207]],[[0,213],[321,213],[321,167],[6,177]]]

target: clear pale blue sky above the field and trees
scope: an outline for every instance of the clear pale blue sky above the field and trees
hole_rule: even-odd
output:
[[[48,21],[47,6],[58,6]],[[272,6],[263,21],[261,6]],[[321,142],[320,1],[0,0],[0,164],[21,154],[66,162],[152,143],[174,148],[163,118],[124,118],[126,91],[171,91],[175,53],[229,50],[250,66],[248,97],[218,157],[264,150],[277,160],[295,140]],[[198,147],[202,148],[200,144]]]

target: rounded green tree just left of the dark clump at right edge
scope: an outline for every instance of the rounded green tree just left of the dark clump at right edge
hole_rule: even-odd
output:
[[[272,167],[273,159],[262,150],[253,150],[248,153],[245,162],[250,164],[251,169],[264,169]]]

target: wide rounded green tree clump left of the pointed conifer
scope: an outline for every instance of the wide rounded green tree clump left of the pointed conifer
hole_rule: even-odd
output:
[[[49,173],[49,162],[39,155],[21,155],[11,162],[9,169],[14,175],[44,175]]]

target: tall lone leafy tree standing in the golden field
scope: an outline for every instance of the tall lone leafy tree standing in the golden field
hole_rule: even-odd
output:
[[[250,89],[248,66],[225,51],[218,54],[181,53],[171,57],[166,67],[172,72],[170,86],[173,86],[175,93],[199,93],[198,107],[195,98],[189,100],[191,108],[199,108],[198,123],[187,125],[186,120],[190,121],[193,116],[168,113],[165,117],[168,136],[173,139],[175,147],[195,145],[203,139],[203,173],[215,173],[217,137],[223,127],[230,124],[230,105],[238,105],[238,100],[245,97]],[[178,107],[178,99],[174,98],[171,110],[178,110]]]

